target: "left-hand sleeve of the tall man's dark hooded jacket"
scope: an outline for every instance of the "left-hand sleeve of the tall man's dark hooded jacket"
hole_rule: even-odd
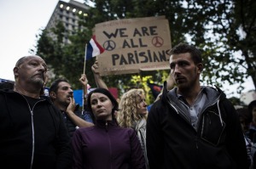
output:
[[[150,169],[161,168],[164,160],[164,141],[163,137],[160,134],[160,112],[156,106],[156,104],[158,104],[159,102],[160,100],[152,105],[148,113],[148,120],[146,126],[146,148]]]

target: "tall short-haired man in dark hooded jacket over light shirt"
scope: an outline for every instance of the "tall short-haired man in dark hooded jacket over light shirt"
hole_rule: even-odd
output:
[[[218,88],[200,85],[201,51],[172,48],[177,87],[164,91],[148,113],[150,169],[246,169],[247,149],[236,110]]]

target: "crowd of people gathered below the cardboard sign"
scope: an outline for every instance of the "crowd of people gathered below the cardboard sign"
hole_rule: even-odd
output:
[[[82,74],[83,108],[66,78],[49,87],[39,56],[20,58],[15,83],[0,85],[0,161],[30,169],[256,168],[256,100],[236,110],[218,87],[201,86],[201,51],[172,48],[170,76],[148,112],[143,88],[119,102],[91,66],[97,87]],[[253,165],[255,163],[255,165]]]

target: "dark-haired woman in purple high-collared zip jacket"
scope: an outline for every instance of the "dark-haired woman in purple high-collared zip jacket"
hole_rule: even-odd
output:
[[[139,169],[144,168],[143,149],[136,132],[119,127],[114,117],[118,103],[104,88],[88,95],[94,127],[82,127],[73,134],[73,169]]]

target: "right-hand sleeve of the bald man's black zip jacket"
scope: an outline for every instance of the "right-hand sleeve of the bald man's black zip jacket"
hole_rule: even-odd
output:
[[[57,116],[59,119],[59,127],[58,127],[58,134],[56,137],[56,148],[57,148],[57,161],[56,161],[56,168],[57,169],[70,169],[72,168],[72,147],[71,147],[71,138],[68,135],[67,127],[65,126],[65,122],[61,116],[61,112],[57,111]]]

